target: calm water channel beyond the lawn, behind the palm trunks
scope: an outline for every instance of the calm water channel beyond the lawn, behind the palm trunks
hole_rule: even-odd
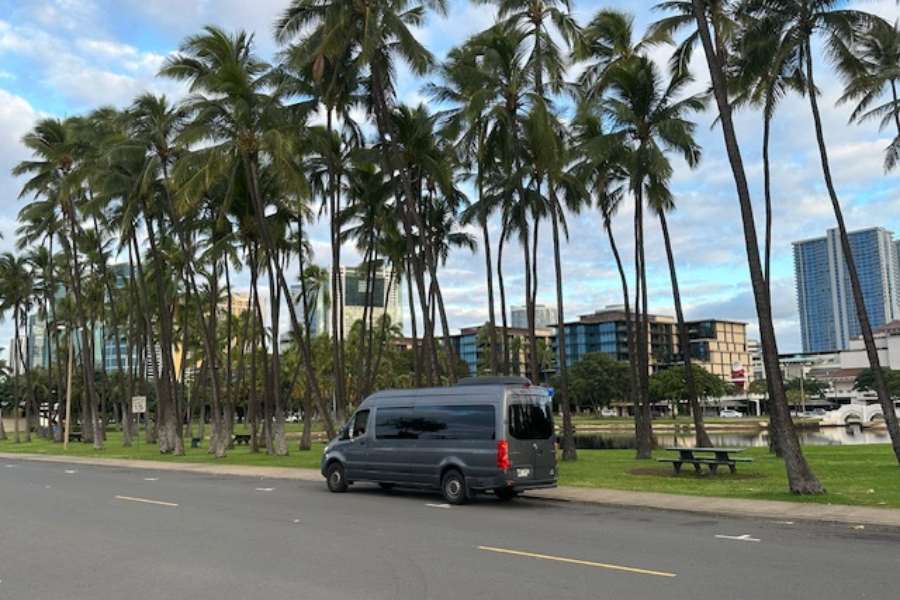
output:
[[[806,446],[829,446],[840,444],[887,444],[890,442],[886,429],[863,429],[857,425],[848,427],[823,427],[798,431],[800,442]],[[713,446],[726,448],[749,448],[767,446],[767,431],[710,431]],[[690,431],[661,431],[656,434],[660,446],[692,446],[694,436]],[[580,433],[575,436],[576,447],[583,449],[608,450],[634,448],[634,435],[628,432],[604,431]]]

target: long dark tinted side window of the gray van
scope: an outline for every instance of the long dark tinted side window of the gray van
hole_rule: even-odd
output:
[[[379,408],[375,437],[382,440],[492,440],[494,407],[437,405]]]

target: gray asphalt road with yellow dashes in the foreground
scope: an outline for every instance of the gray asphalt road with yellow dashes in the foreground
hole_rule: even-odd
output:
[[[3,600],[894,599],[898,571],[896,530],[0,462]]]

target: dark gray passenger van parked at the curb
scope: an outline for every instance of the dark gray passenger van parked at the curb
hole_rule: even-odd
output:
[[[366,398],[322,455],[332,492],[357,481],[439,488],[463,504],[501,500],[557,482],[553,407],[520,377],[474,377],[452,387],[388,390]]]

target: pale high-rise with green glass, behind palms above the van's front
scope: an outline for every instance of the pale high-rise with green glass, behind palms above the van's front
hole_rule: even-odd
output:
[[[308,285],[306,289],[307,305],[310,309],[309,331],[312,335],[331,333],[331,310],[334,306],[331,298],[331,277],[329,271],[325,269],[323,271],[326,275],[325,289],[320,289],[319,285],[315,283]],[[391,270],[384,268],[377,270],[370,290],[364,268],[341,267],[344,335],[348,335],[353,324],[362,320],[364,314],[367,314],[367,305],[375,311],[374,318],[376,320],[380,319],[383,314],[387,314],[392,324],[403,326],[400,284],[396,277],[393,280],[391,277]],[[297,318],[302,320],[304,312],[299,284],[291,286],[291,299],[294,302]]]

